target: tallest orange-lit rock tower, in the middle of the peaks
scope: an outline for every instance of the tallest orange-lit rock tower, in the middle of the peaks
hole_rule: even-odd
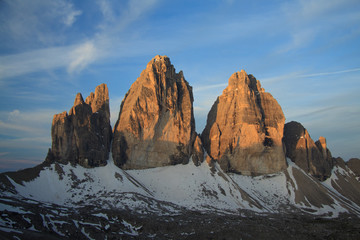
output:
[[[192,88],[168,57],[156,56],[121,103],[113,160],[123,169],[187,163],[195,138]]]

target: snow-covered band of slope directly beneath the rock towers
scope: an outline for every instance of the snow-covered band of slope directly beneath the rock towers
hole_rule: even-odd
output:
[[[321,185],[291,161],[288,165],[281,173],[250,177],[224,173],[217,164],[211,169],[205,161],[198,167],[190,161],[186,165],[124,171],[109,160],[106,166],[91,169],[52,164],[22,185],[9,180],[22,197],[69,207],[91,204],[161,214],[177,213],[181,208],[275,213],[304,210],[332,217],[348,211],[347,203],[331,185],[341,170],[334,168],[332,178]],[[332,203],[312,204],[308,200],[311,196],[306,195],[309,193],[299,189],[299,174],[313,182],[316,191],[321,188],[328,194]],[[356,204],[350,205],[358,209]]]

